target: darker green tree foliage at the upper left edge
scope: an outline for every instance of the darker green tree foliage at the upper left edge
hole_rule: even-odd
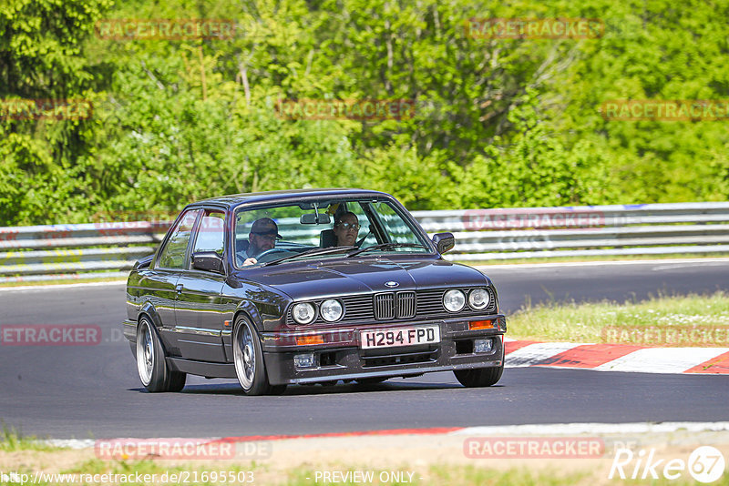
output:
[[[0,5],[0,224],[63,221],[83,192],[79,158],[94,149],[85,119],[7,116],[18,99],[84,99],[93,76],[82,42],[110,0],[11,0]],[[56,214],[57,213],[57,214]]]

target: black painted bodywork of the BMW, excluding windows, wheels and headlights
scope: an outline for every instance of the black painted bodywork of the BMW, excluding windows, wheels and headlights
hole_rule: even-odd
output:
[[[154,256],[139,260],[129,274],[127,315],[123,329],[133,344],[137,323],[146,314],[158,330],[167,362],[172,370],[209,378],[235,378],[231,347],[232,325],[244,314],[262,340],[265,367],[272,385],[311,383],[329,380],[355,380],[367,377],[412,376],[428,371],[463,370],[503,366],[503,334],[506,318],[498,312],[498,295],[491,281],[465,265],[450,263],[431,246],[427,254],[368,252],[354,258],[327,256],[321,259],[293,260],[275,266],[235,268],[233,265],[233,218],[238,208],[255,208],[272,203],[297,203],[307,199],[371,197],[386,200],[402,209],[402,216],[426,237],[406,209],[385,193],[362,189],[312,189],[216,197],[190,204],[191,208],[214,208],[226,213],[226,247],[222,272],[197,269],[156,268]],[[180,217],[184,213],[180,212]],[[178,219],[180,219],[178,217]],[[451,236],[452,238],[452,236]],[[436,243],[438,239],[436,238]],[[441,248],[443,248],[441,246]],[[188,248],[190,261],[190,248]],[[214,262],[213,262],[214,263]],[[210,262],[205,265],[210,266]],[[205,265],[202,265],[205,267]],[[411,319],[314,321],[297,325],[288,317],[291,306],[301,301],[326,298],[369,298],[391,292],[385,282],[399,283],[397,291],[486,288],[492,291],[493,306],[482,312],[416,314]],[[468,322],[491,319],[492,329],[468,330]],[[360,349],[359,330],[386,329],[436,324],[441,342],[407,349]],[[295,336],[320,333],[323,344],[298,346]],[[494,339],[489,353],[469,351],[475,338]],[[293,355],[315,351],[321,365],[312,370],[296,370]]]

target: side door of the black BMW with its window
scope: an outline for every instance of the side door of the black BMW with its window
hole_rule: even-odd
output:
[[[214,251],[225,260],[225,211],[205,208],[192,236],[188,268],[177,281],[175,331],[185,359],[225,362],[221,333],[221,291],[226,276],[191,267],[192,255]]]

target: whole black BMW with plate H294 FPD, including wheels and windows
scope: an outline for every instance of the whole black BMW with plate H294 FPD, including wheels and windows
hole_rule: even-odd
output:
[[[441,255],[394,197],[305,189],[190,204],[127,284],[124,334],[149,391],[187,374],[245,394],[453,370],[467,387],[504,370],[506,318],[488,277]]]

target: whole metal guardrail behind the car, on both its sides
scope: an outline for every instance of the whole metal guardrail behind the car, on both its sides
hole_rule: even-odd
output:
[[[412,214],[430,234],[454,234],[450,260],[729,253],[729,202]],[[138,258],[157,248],[169,224],[0,228],[0,281],[126,277]]]

